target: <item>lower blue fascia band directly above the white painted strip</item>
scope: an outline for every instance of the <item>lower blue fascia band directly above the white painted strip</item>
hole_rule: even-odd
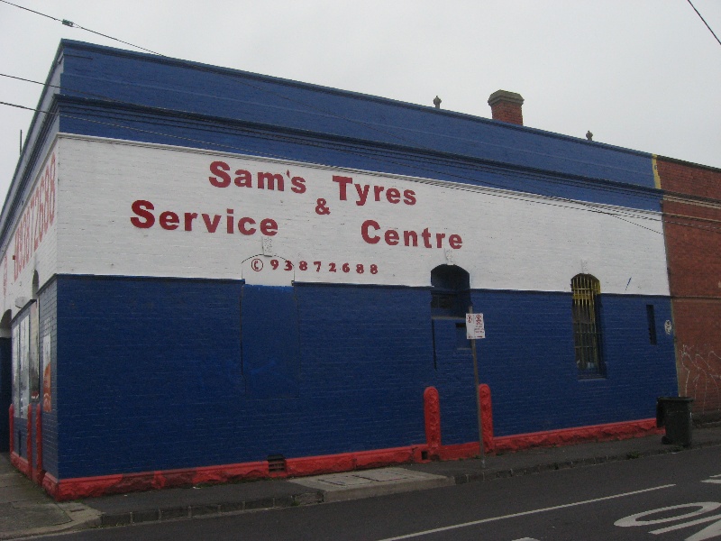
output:
[[[443,151],[242,120],[59,96],[61,132],[442,179],[549,197],[659,210],[655,188],[535,170]]]

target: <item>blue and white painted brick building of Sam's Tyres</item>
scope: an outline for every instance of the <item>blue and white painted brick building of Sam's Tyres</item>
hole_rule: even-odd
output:
[[[437,454],[478,453],[468,306],[511,447],[676,393],[650,154],[77,41],[39,109],[0,359],[59,499],[426,460],[429,387]]]

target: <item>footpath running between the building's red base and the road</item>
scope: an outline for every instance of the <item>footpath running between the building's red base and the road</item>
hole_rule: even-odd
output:
[[[721,426],[698,427],[686,450],[662,445],[661,435],[622,441],[536,448],[478,459],[399,466],[296,479],[248,481],[135,492],[56,503],[14,470],[0,454],[0,539],[37,536],[88,527],[207,517],[255,509],[286,508],[370,498],[473,481],[490,481],[537,472],[689,452],[721,445]]]

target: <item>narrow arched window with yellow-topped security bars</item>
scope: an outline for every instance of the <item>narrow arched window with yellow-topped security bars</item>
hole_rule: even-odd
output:
[[[580,377],[603,375],[601,356],[601,284],[590,274],[577,274],[570,280],[573,293],[573,345]]]

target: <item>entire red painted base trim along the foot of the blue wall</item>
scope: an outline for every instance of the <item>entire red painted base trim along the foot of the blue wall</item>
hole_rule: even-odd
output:
[[[649,434],[660,434],[661,432],[662,429],[656,428],[656,419],[653,418],[625,423],[581,426],[548,432],[496,437],[493,438],[493,445],[496,451],[518,451],[532,446],[570,445],[588,441],[626,439]],[[471,458],[478,456],[479,443],[442,445],[437,451],[437,456],[441,460]],[[63,479],[60,481],[50,473],[46,473],[42,480],[42,487],[55,500],[77,500],[105,494],[150,491],[200,483],[317,475],[321,473],[350,472],[391,464],[421,463],[427,462],[424,456],[428,454],[428,445],[412,445],[357,453],[289,458],[286,461],[286,472],[273,472],[272,474],[269,472],[267,462],[227,464],[164,472],[105,475]],[[29,465],[22,457],[13,453],[11,454],[11,460],[16,468],[23,472],[29,472]]]

